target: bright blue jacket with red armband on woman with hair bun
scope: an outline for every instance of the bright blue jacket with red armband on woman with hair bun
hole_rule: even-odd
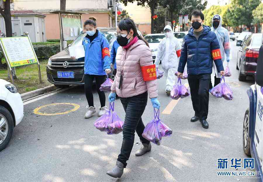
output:
[[[107,38],[98,31],[98,36],[90,43],[84,37],[82,45],[85,50],[84,74],[106,75],[105,69],[110,69],[110,51]]]

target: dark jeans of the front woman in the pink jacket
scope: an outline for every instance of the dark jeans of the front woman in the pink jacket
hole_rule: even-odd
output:
[[[127,165],[126,161],[129,160],[131,149],[134,144],[135,131],[140,137],[142,143],[147,143],[147,144],[150,143],[150,141],[146,140],[142,136],[145,127],[142,122],[141,116],[147,105],[147,99],[148,99],[148,92],[145,92],[143,94],[134,97],[128,97],[128,98],[120,97],[126,115],[123,124],[123,131],[122,131],[123,133],[122,148],[117,160],[124,164],[124,168]]]

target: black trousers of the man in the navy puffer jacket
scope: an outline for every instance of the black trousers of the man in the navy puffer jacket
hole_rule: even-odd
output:
[[[201,120],[207,119],[208,115],[210,82],[211,74],[188,75],[193,109]]]

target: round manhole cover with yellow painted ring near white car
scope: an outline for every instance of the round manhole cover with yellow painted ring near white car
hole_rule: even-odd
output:
[[[78,104],[56,103],[37,107],[33,112],[38,115],[59,115],[76,111],[78,108]]]

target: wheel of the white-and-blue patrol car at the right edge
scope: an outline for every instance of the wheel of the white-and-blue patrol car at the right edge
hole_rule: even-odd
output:
[[[243,150],[246,155],[251,156],[250,138],[249,138],[249,108],[245,112],[245,117],[243,122]]]

